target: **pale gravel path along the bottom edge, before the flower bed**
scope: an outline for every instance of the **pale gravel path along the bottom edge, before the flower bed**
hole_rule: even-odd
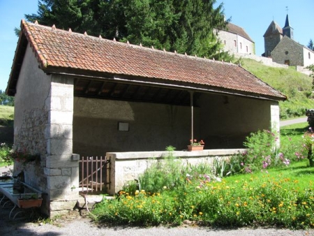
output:
[[[61,219],[57,219],[52,223],[27,223],[22,219],[9,220],[8,214],[9,208],[0,208],[0,235],[1,236],[30,236],[30,235],[42,235],[42,236],[57,236],[57,235],[130,235],[130,236],[185,236],[185,235],[210,235],[210,236],[281,236],[281,235],[306,235],[314,236],[314,229],[311,230],[287,230],[279,228],[233,228],[233,229],[221,229],[221,228],[208,228],[199,226],[179,226],[175,228],[167,227],[130,227],[130,226],[117,226],[108,227],[103,225],[97,225],[91,222],[91,219],[82,217],[76,214],[67,216]]]

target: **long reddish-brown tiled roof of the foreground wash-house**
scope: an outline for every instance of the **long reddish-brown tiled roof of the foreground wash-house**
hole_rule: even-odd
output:
[[[71,70],[77,75],[88,72],[89,75],[97,73],[104,77],[108,74],[120,78],[133,76],[141,80],[188,84],[193,88],[257,98],[286,99],[279,91],[235,64],[119,43],[24,21],[21,29],[46,73]],[[15,61],[13,70],[14,64]],[[10,80],[14,74],[11,72]]]

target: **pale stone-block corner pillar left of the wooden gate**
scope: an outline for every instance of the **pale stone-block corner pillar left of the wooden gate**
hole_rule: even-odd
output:
[[[79,184],[78,163],[73,160],[73,80],[52,76],[47,124],[47,193],[50,216],[63,214],[76,204]]]

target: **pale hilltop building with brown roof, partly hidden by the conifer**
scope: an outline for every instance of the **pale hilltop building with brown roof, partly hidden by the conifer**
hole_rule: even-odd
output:
[[[230,54],[255,54],[255,43],[246,31],[236,24],[228,23],[226,29],[218,31],[223,50]]]

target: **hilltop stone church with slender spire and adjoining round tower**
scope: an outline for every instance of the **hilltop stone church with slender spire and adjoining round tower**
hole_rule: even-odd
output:
[[[265,52],[262,56],[271,57],[274,62],[289,66],[306,67],[314,64],[314,52],[297,43],[293,37],[294,31],[290,27],[288,15],[283,29],[273,20],[264,34]]]

